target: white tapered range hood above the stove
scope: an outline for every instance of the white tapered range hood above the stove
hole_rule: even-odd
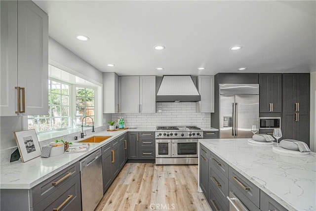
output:
[[[156,95],[157,102],[197,102],[201,96],[191,76],[163,76]]]

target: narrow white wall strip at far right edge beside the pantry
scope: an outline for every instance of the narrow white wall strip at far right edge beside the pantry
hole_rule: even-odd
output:
[[[310,149],[316,152],[316,72],[311,73]]]

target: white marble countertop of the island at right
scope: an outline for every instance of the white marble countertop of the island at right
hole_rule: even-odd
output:
[[[199,143],[288,210],[316,210],[316,153],[275,153],[247,139],[199,139]]]

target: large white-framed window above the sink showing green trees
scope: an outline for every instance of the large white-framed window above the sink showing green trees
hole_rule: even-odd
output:
[[[81,125],[84,116],[91,116],[94,121],[95,88],[49,79],[48,106],[48,115],[28,116],[28,129],[43,132],[73,128]],[[83,125],[92,125],[91,118],[85,118]]]

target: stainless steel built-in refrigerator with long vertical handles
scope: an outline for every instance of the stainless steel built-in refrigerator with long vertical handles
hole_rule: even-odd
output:
[[[259,129],[259,84],[219,84],[220,138],[251,138]]]

